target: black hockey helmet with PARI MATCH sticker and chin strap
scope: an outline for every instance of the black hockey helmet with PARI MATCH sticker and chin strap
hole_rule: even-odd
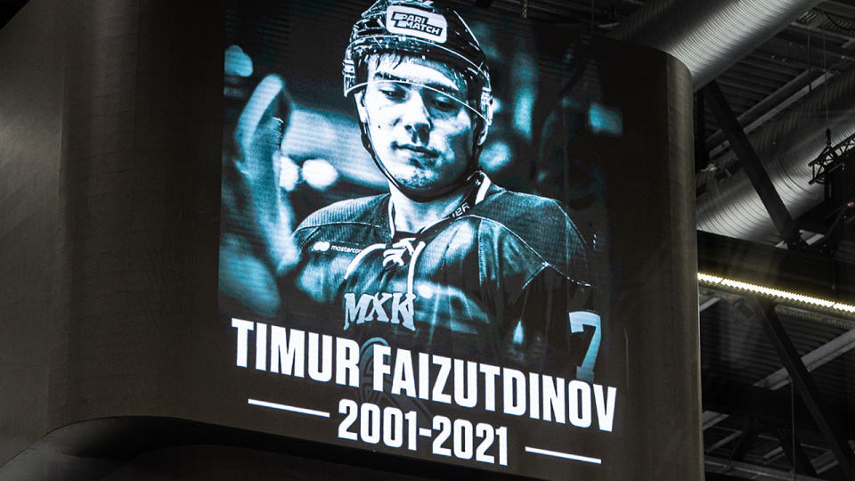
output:
[[[467,99],[464,104],[475,114],[472,158],[468,159],[465,175],[444,192],[411,192],[389,175],[377,159],[366,126],[362,128],[362,143],[387,178],[413,200],[426,201],[468,182],[478,170],[477,157],[493,122],[493,94],[486,55],[472,30],[460,15],[437,7],[431,0],[378,0],[351,30],[350,42],[342,62],[345,96],[365,86],[366,60],[374,54],[397,53],[441,61],[459,71],[466,80]]]

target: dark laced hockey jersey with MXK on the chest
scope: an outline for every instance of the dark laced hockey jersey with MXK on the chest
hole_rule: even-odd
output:
[[[584,242],[565,210],[487,181],[458,214],[408,234],[395,232],[388,194],[315,212],[294,233],[293,281],[323,308],[284,298],[289,312],[361,343],[566,371],[567,313],[586,307],[589,289]]]

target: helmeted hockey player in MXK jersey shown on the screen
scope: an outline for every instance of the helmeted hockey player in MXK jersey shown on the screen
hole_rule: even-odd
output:
[[[580,359],[568,314],[589,298],[584,241],[558,202],[480,170],[493,99],[466,22],[427,0],[379,0],[355,23],[343,65],[389,192],[322,208],[294,232],[293,281],[331,306],[317,322],[529,370]]]

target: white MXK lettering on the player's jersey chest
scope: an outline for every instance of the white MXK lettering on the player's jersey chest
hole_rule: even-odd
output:
[[[378,292],[362,294],[359,302],[353,292],[345,294],[345,330],[351,324],[365,322],[389,322],[401,324],[409,330],[416,330],[412,323],[412,302],[416,296],[402,292]]]

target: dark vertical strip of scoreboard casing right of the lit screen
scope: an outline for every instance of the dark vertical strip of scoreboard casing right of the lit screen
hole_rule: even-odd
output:
[[[687,409],[701,399],[691,78],[680,61],[663,60],[664,69],[635,74],[639,85],[666,93],[662,104],[635,111],[647,116],[665,141],[639,139],[645,151],[638,157],[623,152],[606,173],[614,179],[613,191],[637,196],[627,202],[615,194],[609,206],[613,216],[621,216],[611,232],[612,255],[620,258],[612,262],[617,279],[612,305],[615,318],[626,320],[617,335],[628,339],[629,401],[623,405],[628,436],[618,451],[626,453],[621,472],[627,479],[702,479],[700,410]],[[627,135],[643,133],[628,129]],[[639,165],[639,158],[669,161]]]

